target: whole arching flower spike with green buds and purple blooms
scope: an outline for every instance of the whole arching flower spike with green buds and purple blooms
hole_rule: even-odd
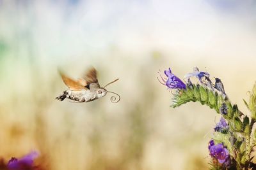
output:
[[[243,100],[251,114],[244,114],[228,99],[220,78],[215,78],[212,83],[209,73],[199,71],[195,67],[192,73],[184,76],[184,87],[184,83],[173,75],[170,69],[164,71],[164,74],[168,78],[161,77],[165,83],[162,84],[168,89],[178,89],[178,92],[173,94],[173,108],[188,102],[200,102],[221,115],[209,142],[211,169],[256,169],[252,159],[253,148],[256,146],[256,83],[252,92],[249,92],[248,103]],[[175,76],[175,80],[171,76]],[[196,84],[191,81],[192,77],[198,80]]]

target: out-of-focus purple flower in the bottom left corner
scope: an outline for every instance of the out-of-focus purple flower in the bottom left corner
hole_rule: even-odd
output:
[[[32,170],[34,169],[33,162],[38,156],[38,152],[31,152],[20,159],[12,157],[12,159],[9,160],[7,167],[10,170]]]

